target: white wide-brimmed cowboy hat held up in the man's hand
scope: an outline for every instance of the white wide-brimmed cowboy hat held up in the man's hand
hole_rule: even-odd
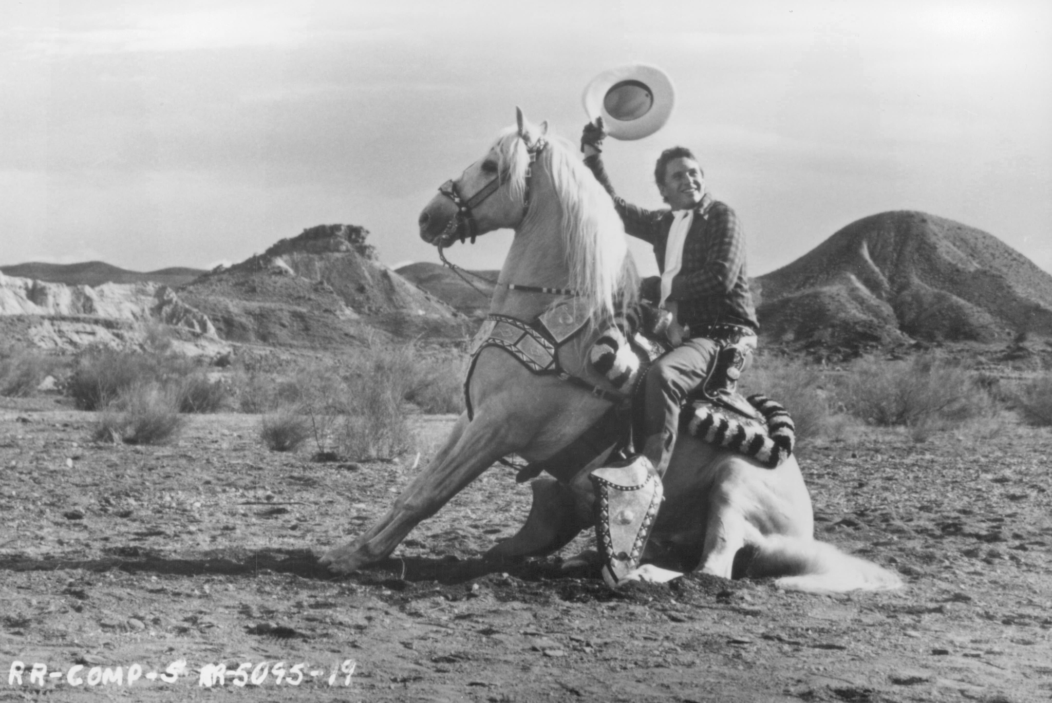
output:
[[[591,79],[582,97],[590,120],[602,117],[614,139],[643,139],[664,126],[672,114],[675,89],[656,66],[630,63]]]

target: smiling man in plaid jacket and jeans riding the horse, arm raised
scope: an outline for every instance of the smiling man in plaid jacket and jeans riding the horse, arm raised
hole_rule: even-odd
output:
[[[758,324],[746,275],[745,235],[734,210],[706,193],[705,174],[683,146],[665,149],[654,168],[658,190],[669,209],[648,210],[626,202],[603,166],[605,137],[602,117],[585,125],[585,164],[613,198],[625,232],[653,246],[662,273],[644,280],[641,294],[656,304],[658,332],[671,330],[666,334],[674,347],[651,365],[645,388],[643,456],[664,476],[683,401],[701,388],[709,398],[733,404],[736,379],[756,346]]]

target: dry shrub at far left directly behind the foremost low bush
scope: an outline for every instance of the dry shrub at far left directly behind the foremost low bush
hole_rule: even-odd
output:
[[[82,410],[106,407],[135,385],[145,385],[160,376],[158,360],[151,355],[90,349],[74,366],[66,393]]]

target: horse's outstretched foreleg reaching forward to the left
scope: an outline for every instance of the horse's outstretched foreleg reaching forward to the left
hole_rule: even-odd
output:
[[[450,498],[522,444],[509,423],[461,416],[446,445],[394,500],[394,505],[358,539],[325,553],[321,563],[349,573],[380,561],[394,550],[413,527],[438,513]]]

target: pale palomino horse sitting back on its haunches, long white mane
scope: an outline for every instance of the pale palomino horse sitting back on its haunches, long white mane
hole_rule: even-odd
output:
[[[589,319],[584,334],[558,349],[562,368],[575,382],[534,375],[506,350],[484,347],[469,384],[473,415],[458,419],[443,448],[378,523],[322,557],[332,570],[347,573],[386,558],[498,459],[510,454],[530,462],[547,459],[614,402],[609,382],[590,368],[588,350],[609,326],[619,301],[634,300],[639,280],[624,227],[572,147],[550,139],[546,123],[528,124],[521,111],[518,118],[518,126],[482,159],[440,188],[420,216],[421,237],[446,246],[458,237],[514,229],[490,314],[529,322],[570,297],[584,305]],[[487,556],[550,554],[593,524],[588,475],[599,463],[571,471],[570,479],[534,480],[526,524]],[[651,555],[662,547],[692,554],[702,571],[730,578],[735,554],[750,547],[747,574],[780,576],[785,588],[825,592],[902,585],[876,564],[813,539],[810,496],[792,456],[764,468],[683,434],[664,487]],[[633,578],[669,574],[644,564]]]

